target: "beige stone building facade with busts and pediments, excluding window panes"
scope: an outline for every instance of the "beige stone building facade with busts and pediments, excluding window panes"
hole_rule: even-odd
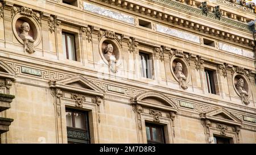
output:
[[[256,143],[255,5],[202,2],[0,1],[1,143],[68,143],[67,107],[90,143],[147,143],[148,122],[166,143]]]

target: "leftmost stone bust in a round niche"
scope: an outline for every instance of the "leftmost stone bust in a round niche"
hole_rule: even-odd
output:
[[[30,31],[30,24],[27,22],[24,22],[20,25],[21,33],[19,34],[19,37],[24,41],[24,48],[28,53],[34,53],[34,39],[28,35],[28,31]]]

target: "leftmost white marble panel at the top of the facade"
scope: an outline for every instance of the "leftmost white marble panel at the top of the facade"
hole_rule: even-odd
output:
[[[122,14],[118,11],[109,10],[105,7],[100,7],[91,3],[84,2],[84,10],[94,12],[99,15],[108,16],[109,18],[121,20],[122,22],[126,22],[129,24],[135,24],[133,16]]]

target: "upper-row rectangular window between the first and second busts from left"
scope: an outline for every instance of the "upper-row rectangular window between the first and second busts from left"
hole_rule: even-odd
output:
[[[62,44],[64,57],[69,60],[76,61],[75,35],[70,33],[62,33]]]

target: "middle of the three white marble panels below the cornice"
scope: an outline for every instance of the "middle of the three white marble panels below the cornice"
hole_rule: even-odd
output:
[[[199,36],[192,35],[191,33],[187,33],[184,31],[175,30],[174,28],[162,26],[161,24],[156,24],[156,32],[165,33],[167,35],[176,36],[181,39],[193,41],[200,44]]]

